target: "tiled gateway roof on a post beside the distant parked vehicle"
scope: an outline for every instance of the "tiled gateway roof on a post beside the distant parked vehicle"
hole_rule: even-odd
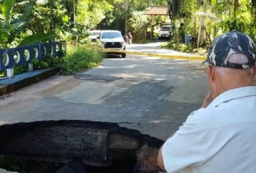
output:
[[[151,39],[153,38],[153,34],[154,34],[155,16],[167,16],[167,10],[168,10],[167,7],[153,7],[144,13],[145,15],[152,16],[151,34],[150,34]]]

